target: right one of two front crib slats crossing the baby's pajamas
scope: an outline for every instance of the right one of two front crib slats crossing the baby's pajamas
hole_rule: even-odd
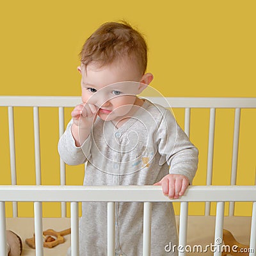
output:
[[[152,203],[144,202],[143,256],[150,256],[150,252],[151,252],[151,218],[152,218]]]

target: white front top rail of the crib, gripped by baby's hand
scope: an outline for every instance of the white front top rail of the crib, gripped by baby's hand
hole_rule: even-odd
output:
[[[170,200],[161,186],[0,186],[12,202],[256,202],[256,186],[189,186]]]

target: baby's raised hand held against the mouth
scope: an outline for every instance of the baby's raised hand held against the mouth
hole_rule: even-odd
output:
[[[73,109],[71,116],[79,128],[91,129],[99,108],[93,104],[79,104]]]

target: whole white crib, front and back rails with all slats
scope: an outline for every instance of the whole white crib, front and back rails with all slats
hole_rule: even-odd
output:
[[[190,186],[186,195],[182,196],[179,215],[179,248],[185,248],[187,244],[188,230],[188,202],[205,202],[205,215],[210,214],[210,203],[217,202],[214,246],[217,248],[215,255],[221,255],[224,207],[229,203],[229,215],[234,215],[234,202],[253,202],[252,222],[250,230],[250,256],[256,255],[256,187],[236,186],[237,152],[239,141],[239,125],[241,109],[256,108],[256,98],[183,98],[183,97],[147,97],[152,102],[159,103],[166,108],[184,108],[184,131],[189,136],[191,108],[208,108],[209,118],[209,143],[207,157],[207,179],[206,186]],[[35,241],[36,256],[44,255],[42,241],[42,202],[61,202],[61,216],[65,218],[66,204],[70,204],[71,223],[71,253],[72,256],[79,255],[78,244],[78,204],[79,202],[94,201],[108,202],[108,256],[115,255],[115,202],[144,202],[143,220],[143,256],[150,255],[150,222],[151,202],[170,202],[163,196],[159,186],[66,186],[65,185],[65,163],[60,160],[60,186],[42,186],[40,168],[40,131],[38,108],[51,107],[59,109],[59,135],[64,132],[64,108],[74,107],[81,101],[80,97],[16,97],[0,96],[0,107],[8,107],[9,143],[10,143],[10,170],[12,185],[0,186],[0,256],[5,256],[6,246],[6,214],[5,202],[13,202],[13,218],[18,216],[17,202],[34,202],[35,214]],[[35,186],[19,186],[16,181],[15,170],[15,132],[13,122],[14,107],[33,108],[34,136],[35,136]],[[211,186],[212,161],[214,150],[214,127],[217,108],[235,109],[234,136],[232,153],[232,175],[230,186]],[[253,117],[252,117],[253,118]],[[255,118],[255,116],[254,116]],[[3,172],[4,170],[1,170]],[[183,247],[182,247],[183,246]],[[186,250],[179,250],[179,255],[186,255]],[[155,255],[154,255],[155,256]]]

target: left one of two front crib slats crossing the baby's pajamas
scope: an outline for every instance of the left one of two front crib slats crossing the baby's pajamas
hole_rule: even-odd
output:
[[[108,202],[108,256],[115,256],[115,202]]]

